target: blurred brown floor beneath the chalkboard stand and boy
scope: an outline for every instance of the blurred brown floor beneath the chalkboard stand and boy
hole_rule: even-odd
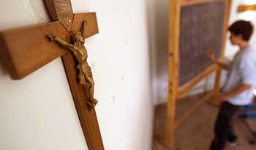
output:
[[[184,115],[184,112],[194,106],[202,95],[195,95],[189,98],[178,100],[176,106],[176,119]],[[217,117],[218,106],[212,103],[203,103],[192,116],[176,129],[175,150],[208,150],[213,135],[213,126]],[[166,104],[160,104],[155,108],[154,119],[154,146],[153,150],[170,150],[161,141],[165,129]],[[247,120],[256,130],[256,119]],[[253,139],[249,130],[242,124],[241,119],[236,122],[236,133],[238,142],[236,147],[227,147],[225,150],[255,150],[256,144],[249,144],[248,140]]]

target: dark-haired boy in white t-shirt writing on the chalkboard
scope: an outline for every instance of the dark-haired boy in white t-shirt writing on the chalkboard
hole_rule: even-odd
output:
[[[226,141],[234,143],[237,139],[233,125],[243,106],[252,103],[252,90],[256,85],[256,52],[249,44],[253,27],[248,21],[239,20],[230,25],[230,42],[239,47],[231,63],[217,61],[214,53],[207,55],[219,67],[228,71],[223,93],[219,95],[222,104],[214,126],[214,140],[211,150],[224,149]]]

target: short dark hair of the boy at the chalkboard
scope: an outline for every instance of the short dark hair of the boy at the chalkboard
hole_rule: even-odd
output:
[[[236,36],[241,34],[245,41],[249,41],[250,37],[252,36],[253,26],[252,23],[250,23],[249,21],[238,20],[230,25],[228,30],[231,33],[234,33]]]

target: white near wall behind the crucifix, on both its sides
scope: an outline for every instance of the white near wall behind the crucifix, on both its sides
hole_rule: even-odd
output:
[[[151,149],[153,105],[148,1],[72,0],[97,12],[86,40],[105,149]],[[0,2],[0,30],[49,21],[42,0]],[[0,66],[0,149],[87,149],[61,59],[13,81]]]

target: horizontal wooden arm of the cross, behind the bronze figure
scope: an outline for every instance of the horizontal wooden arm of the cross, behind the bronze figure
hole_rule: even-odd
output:
[[[71,31],[80,31],[84,21],[86,37],[98,33],[95,12],[75,14]],[[69,32],[59,21],[0,33],[0,59],[10,71],[12,79],[22,79],[67,52],[58,44],[48,41],[47,35],[53,33],[70,42]]]

